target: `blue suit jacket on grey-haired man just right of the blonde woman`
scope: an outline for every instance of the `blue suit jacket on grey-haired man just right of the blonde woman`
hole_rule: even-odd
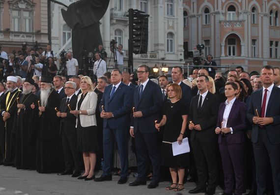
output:
[[[112,87],[113,85],[111,84],[105,88],[100,102],[100,112],[102,111],[103,105],[104,110],[106,112],[112,112],[114,116],[110,119],[103,119],[103,128],[106,128],[108,125],[111,129],[128,129],[132,107],[132,89],[120,83],[112,98],[110,98]]]

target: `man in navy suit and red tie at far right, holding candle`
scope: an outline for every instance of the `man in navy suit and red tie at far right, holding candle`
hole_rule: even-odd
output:
[[[252,93],[247,118],[252,123],[257,194],[266,191],[267,167],[271,164],[275,195],[280,195],[280,89],[273,84],[274,69],[261,69],[263,87]]]

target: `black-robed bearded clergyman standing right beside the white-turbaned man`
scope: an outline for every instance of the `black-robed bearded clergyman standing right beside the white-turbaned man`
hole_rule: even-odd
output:
[[[26,78],[22,96],[18,99],[16,126],[16,158],[17,169],[36,169],[36,124],[38,111],[31,108],[37,103],[37,96],[32,93],[34,80]]]

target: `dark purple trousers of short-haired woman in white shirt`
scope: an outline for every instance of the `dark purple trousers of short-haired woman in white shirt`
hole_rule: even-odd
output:
[[[226,137],[222,137],[222,143],[219,144],[219,147],[224,170],[224,192],[242,195],[244,189],[244,144],[227,144]]]

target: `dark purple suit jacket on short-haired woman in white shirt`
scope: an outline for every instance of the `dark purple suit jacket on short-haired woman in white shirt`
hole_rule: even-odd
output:
[[[219,115],[216,127],[221,128],[223,122],[225,109],[225,102],[220,104]],[[244,102],[235,99],[231,110],[228,115],[226,127],[232,128],[233,133],[226,133],[226,143],[227,144],[238,144],[245,143],[244,130],[246,129],[246,104]],[[222,143],[222,134],[219,134],[218,142]]]

